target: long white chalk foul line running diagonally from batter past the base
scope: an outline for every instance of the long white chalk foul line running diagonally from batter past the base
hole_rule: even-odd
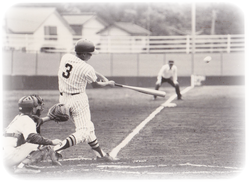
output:
[[[187,87],[185,88],[181,93],[184,94],[191,90],[193,87]],[[161,112],[161,110],[164,109],[164,107],[167,107],[167,105],[172,102],[176,98],[176,94],[172,95],[165,103],[163,103],[161,106],[159,106],[155,111],[153,111],[145,120],[143,120],[119,145],[117,145],[112,151],[110,152],[110,156],[116,157],[118,152],[124,148],[131,140],[132,138],[139,133],[143,127],[150,122],[158,113]]]

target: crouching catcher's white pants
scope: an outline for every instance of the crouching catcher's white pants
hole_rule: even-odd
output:
[[[39,145],[25,143],[19,147],[6,146],[3,148],[3,166],[15,166],[20,164],[28,155],[37,150]]]

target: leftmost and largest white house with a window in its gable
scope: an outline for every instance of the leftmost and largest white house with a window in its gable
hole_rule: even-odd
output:
[[[3,46],[11,44],[15,49],[25,47],[27,51],[72,49],[75,32],[55,8],[8,7],[6,17],[4,9],[2,13],[2,17],[7,17],[7,26],[6,21],[2,24],[3,37],[6,31],[8,32],[7,39],[3,40]]]

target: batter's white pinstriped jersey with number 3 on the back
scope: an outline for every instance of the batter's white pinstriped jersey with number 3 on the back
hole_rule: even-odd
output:
[[[97,80],[94,68],[73,54],[61,58],[58,82],[60,92],[85,93],[87,83]]]

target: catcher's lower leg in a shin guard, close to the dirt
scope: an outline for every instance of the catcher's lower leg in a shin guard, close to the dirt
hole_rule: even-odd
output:
[[[62,158],[62,156],[61,154],[56,153],[51,146],[44,146],[36,151],[31,152],[29,156],[22,161],[22,163],[31,165],[47,160],[48,157],[50,157],[52,165],[61,166],[61,163],[58,160]]]

